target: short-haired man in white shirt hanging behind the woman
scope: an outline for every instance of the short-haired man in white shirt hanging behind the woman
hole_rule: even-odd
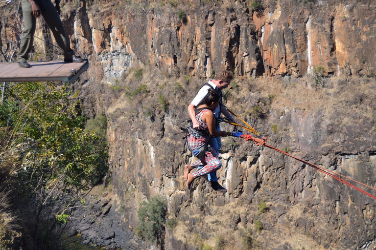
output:
[[[195,128],[195,129],[201,129],[200,124],[196,120],[195,107],[197,107],[201,103],[201,101],[207,95],[208,89],[210,89],[210,88],[213,88],[215,91],[217,91],[219,93],[220,97],[221,97],[220,98],[220,103],[219,103],[218,107],[213,112],[215,118],[216,119],[219,118],[219,116],[222,113],[231,122],[235,122],[234,118],[226,110],[226,106],[222,104],[222,89],[227,88],[230,85],[230,83],[233,80],[233,78],[234,78],[234,75],[233,75],[233,73],[231,71],[223,70],[223,71],[219,72],[217,75],[215,75],[214,79],[209,80],[209,83],[206,83],[204,86],[201,87],[201,89],[198,91],[196,97],[188,105],[188,113],[189,113],[190,119],[192,120],[193,128]],[[217,126],[216,127],[217,130],[221,130],[219,124],[217,124],[216,126]],[[222,146],[221,137],[213,137],[211,139],[210,145],[215,150],[215,152],[219,155],[219,149]],[[224,187],[222,187],[218,183],[218,178],[217,178],[217,172],[216,171],[211,172],[208,176],[205,176],[204,179],[210,182],[210,186],[215,191],[222,192],[222,193],[227,192],[227,189],[224,188]]]

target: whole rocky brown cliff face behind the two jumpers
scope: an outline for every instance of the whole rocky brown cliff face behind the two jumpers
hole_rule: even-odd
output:
[[[241,139],[223,140],[218,179],[228,192],[203,180],[188,192],[183,168],[194,158],[175,133],[203,79],[228,68],[236,79],[227,106],[268,144],[374,187],[375,1],[65,1],[63,12],[90,62],[74,87],[86,114],[109,121],[121,223],[134,228],[140,201],[163,194],[178,220],[166,249],[218,237],[224,249],[374,248],[373,199]],[[319,66],[330,78],[316,89]]]

